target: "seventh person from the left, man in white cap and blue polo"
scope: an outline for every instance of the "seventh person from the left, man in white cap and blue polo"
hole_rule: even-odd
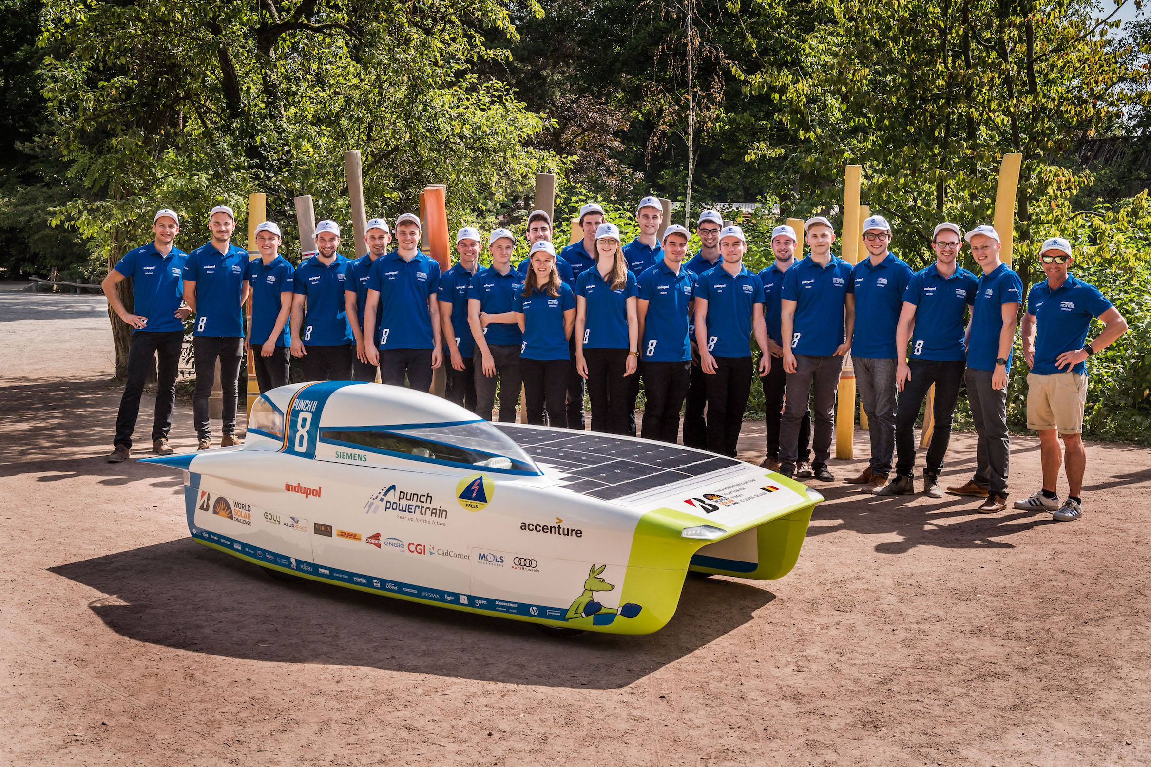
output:
[[[472,366],[472,329],[467,324],[467,290],[479,269],[480,231],[464,227],[456,232],[456,266],[440,277],[440,322],[443,345],[448,351],[448,381],[444,394],[449,400],[475,412],[475,368]]]

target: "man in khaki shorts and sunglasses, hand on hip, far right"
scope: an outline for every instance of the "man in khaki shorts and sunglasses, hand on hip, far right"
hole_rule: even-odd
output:
[[[1083,515],[1080,492],[1087,451],[1080,434],[1087,402],[1084,360],[1127,332],[1127,321],[1095,285],[1068,274],[1074,259],[1066,239],[1045,240],[1039,259],[1047,278],[1027,294],[1023,356],[1031,368],[1027,376],[1027,428],[1039,432],[1043,488],[1027,500],[1015,501],[1015,508],[1047,511],[1053,519],[1070,522]],[[1084,344],[1093,317],[1104,324],[1103,332]],[[1062,505],[1055,493],[1060,437],[1068,485],[1067,500]]]

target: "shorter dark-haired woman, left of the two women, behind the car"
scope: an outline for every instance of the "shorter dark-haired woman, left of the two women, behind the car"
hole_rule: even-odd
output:
[[[543,424],[543,406],[552,427],[567,427],[567,339],[576,325],[576,297],[556,270],[556,251],[540,241],[528,254],[532,268],[516,293],[516,322],[524,332],[519,369],[527,398],[527,422]]]

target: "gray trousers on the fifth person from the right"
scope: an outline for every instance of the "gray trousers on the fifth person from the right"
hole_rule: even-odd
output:
[[[780,361],[780,365],[783,361]],[[826,463],[831,458],[831,438],[836,434],[836,391],[844,358],[795,355],[795,373],[787,374],[784,390],[784,413],[779,419],[779,465],[795,468],[799,453],[799,429],[811,394],[813,463]]]

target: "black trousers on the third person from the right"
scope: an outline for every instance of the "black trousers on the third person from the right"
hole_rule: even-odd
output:
[[[907,367],[912,370],[912,379],[899,392],[899,406],[895,411],[895,474],[901,477],[915,474],[915,420],[920,416],[920,406],[928,396],[928,389],[935,384],[935,407],[931,411],[935,425],[931,429],[928,465],[923,474],[938,477],[943,471],[943,457],[951,442],[951,421],[955,414],[959,385],[963,383],[967,365],[963,361],[908,360]]]

